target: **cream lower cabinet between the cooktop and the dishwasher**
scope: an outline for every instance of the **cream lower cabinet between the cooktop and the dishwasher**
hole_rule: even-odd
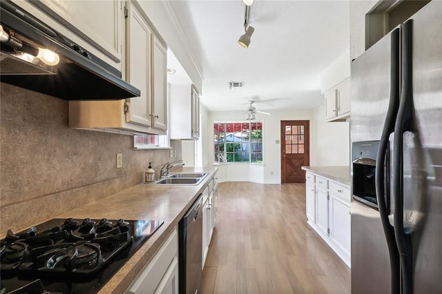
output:
[[[126,293],[178,294],[178,233],[177,228],[166,239]]]

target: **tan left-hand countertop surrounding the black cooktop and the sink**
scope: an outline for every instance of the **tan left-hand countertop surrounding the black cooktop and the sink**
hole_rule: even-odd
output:
[[[213,177],[217,168],[173,168],[171,173],[204,172],[210,173],[202,182],[193,186],[163,186],[140,184],[97,202],[91,202],[56,218],[73,217],[84,219],[151,219],[162,220],[164,224],[132,255],[122,268],[106,282],[98,293],[124,293],[142,268],[155,255],[167,237],[177,226],[184,213],[202,193],[203,187]]]

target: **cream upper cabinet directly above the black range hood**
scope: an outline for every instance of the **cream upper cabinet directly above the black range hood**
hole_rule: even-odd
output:
[[[93,54],[122,70],[122,0],[39,0],[32,4],[93,46]]]

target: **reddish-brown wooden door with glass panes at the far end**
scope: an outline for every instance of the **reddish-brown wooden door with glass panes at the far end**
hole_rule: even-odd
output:
[[[281,121],[281,182],[303,183],[310,164],[309,121]]]

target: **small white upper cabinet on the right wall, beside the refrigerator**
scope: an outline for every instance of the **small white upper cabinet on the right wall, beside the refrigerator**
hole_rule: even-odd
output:
[[[343,120],[347,119],[349,115],[350,80],[345,79],[340,84],[325,92],[325,120]]]

